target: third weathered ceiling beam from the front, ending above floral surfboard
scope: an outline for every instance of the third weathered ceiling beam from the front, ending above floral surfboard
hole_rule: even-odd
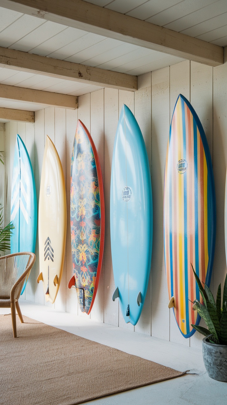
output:
[[[73,110],[78,108],[78,97],[76,96],[45,92],[44,90],[26,89],[24,87],[9,86],[6,84],[0,84],[0,97]]]

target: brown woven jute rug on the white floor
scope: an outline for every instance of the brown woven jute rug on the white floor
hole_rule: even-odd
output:
[[[11,315],[0,315],[0,404],[79,404],[185,374],[23,319],[15,339]]]

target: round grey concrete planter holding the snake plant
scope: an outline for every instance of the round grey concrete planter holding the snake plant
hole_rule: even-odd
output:
[[[227,382],[227,345],[210,343],[203,339],[203,358],[208,375],[218,381]]]

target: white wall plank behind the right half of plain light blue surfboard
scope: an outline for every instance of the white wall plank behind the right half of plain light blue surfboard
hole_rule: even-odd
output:
[[[151,72],[138,77],[138,91],[134,97],[135,118],[144,137],[151,170]],[[135,331],[151,335],[151,274],[144,306]]]

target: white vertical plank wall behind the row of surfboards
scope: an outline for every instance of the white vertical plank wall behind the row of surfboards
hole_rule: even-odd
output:
[[[101,89],[79,97],[78,111],[47,108],[37,111],[35,124],[7,123],[6,159],[8,172],[9,215],[10,184],[16,133],[22,136],[30,153],[34,167],[37,196],[40,174],[48,134],[55,142],[66,176],[68,229],[64,275],[55,309],[82,315],[78,309],[75,290],[68,290],[72,275],[70,246],[70,160],[77,119],[81,119],[91,131],[100,157],[104,178],[106,205],[106,235],[104,263],[95,304],[90,318],[100,322],[121,326],[136,332],[152,335],[172,342],[201,347],[201,337],[196,334],[184,339],[180,334],[172,313],[168,309],[168,291],[163,259],[163,181],[165,153],[168,141],[170,119],[179,93],[191,101],[202,121],[214,164],[214,179],[217,199],[217,243],[214,258],[212,288],[216,293],[226,273],[224,246],[224,190],[227,166],[227,63],[212,68],[195,62],[184,61],[170,67],[146,73],[138,78],[139,90],[135,93],[114,89]],[[112,150],[122,104],[125,103],[135,114],[142,130],[151,164],[153,187],[153,256],[151,277],[141,318],[138,324],[125,324],[118,300],[112,301],[115,290],[110,251],[110,170]],[[25,289],[25,298],[44,304],[41,283],[36,283],[39,274],[38,243],[36,264]]]

